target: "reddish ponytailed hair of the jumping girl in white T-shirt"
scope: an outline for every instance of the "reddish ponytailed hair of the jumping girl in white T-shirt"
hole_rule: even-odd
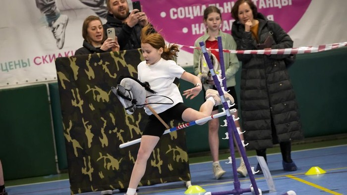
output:
[[[179,51],[178,45],[165,44],[164,38],[161,34],[156,32],[151,24],[144,26],[141,30],[141,44],[149,44],[155,49],[163,48],[162,58],[166,60],[173,60],[177,57],[177,52]]]

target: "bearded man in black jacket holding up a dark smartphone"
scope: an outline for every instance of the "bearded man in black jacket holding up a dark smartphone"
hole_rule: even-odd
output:
[[[115,28],[120,50],[141,48],[141,29],[148,24],[145,12],[140,6],[129,12],[127,0],[106,0],[109,14],[104,29]],[[137,2],[139,5],[139,2]]]

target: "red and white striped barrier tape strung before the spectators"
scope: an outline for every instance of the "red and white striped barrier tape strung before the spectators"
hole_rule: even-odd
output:
[[[184,46],[179,45],[179,47],[183,48],[191,48],[191,49],[201,49],[198,47],[192,47],[192,46]],[[240,53],[240,54],[297,54],[297,53],[315,53],[320,51],[327,51],[331,49],[337,49],[347,46],[347,42],[342,43],[336,43],[336,44],[328,44],[328,45],[321,45],[318,47],[299,47],[299,48],[286,48],[286,49],[260,49],[260,50],[229,50],[229,49],[223,49],[223,52],[230,52],[230,53]],[[211,49],[211,50],[219,50],[219,49]]]

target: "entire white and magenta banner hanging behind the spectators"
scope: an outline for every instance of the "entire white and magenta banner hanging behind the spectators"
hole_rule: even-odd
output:
[[[131,0],[127,0],[131,8]],[[134,1],[134,0],[132,0]],[[231,8],[235,0],[140,0],[143,11],[165,40],[187,47],[178,53],[177,64],[193,64],[195,40],[206,30],[203,12],[209,5],[222,11],[223,32],[231,33]],[[55,59],[73,55],[82,47],[83,20],[99,15],[106,23],[105,0],[50,0],[68,18],[63,47],[35,0],[1,0],[0,89],[38,82],[57,81]],[[347,41],[347,0],[253,0],[258,11],[274,20],[290,35],[294,48]],[[16,11],[12,11],[15,8]],[[322,14],[323,13],[323,14]],[[25,29],[25,30],[23,30]],[[334,30],[332,30],[334,29]]]

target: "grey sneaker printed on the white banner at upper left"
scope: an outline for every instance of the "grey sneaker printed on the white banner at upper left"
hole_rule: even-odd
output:
[[[65,41],[65,29],[69,18],[67,15],[61,14],[56,21],[52,23],[52,33],[57,40],[57,47],[61,49]]]

